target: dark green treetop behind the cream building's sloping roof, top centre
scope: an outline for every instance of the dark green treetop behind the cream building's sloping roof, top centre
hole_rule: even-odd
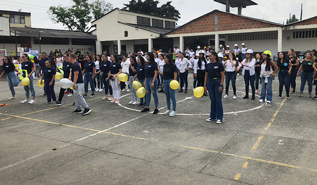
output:
[[[123,9],[148,13],[166,18],[173,18],[176,20],[180,19],[179,11],[171,5],[172,1],[162,4],[160,7],[158,7],[158,3],[158,0],[130,0],[129,4],[123,4]]]

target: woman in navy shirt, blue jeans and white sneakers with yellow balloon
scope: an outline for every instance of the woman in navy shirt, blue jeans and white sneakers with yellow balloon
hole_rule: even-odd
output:
[[[175,116],[176,115],[176,97],[175,92],[170,87],[170,82],[172,80],[177,79],[177,67],[172,61],[172,56],[167,54],[164,56],[164,68],[163,68],[163,76],[164,76],[164,83],[163,86],[165,87],[165,96],[166,96],[166,104],[167,104],[167,111],[165,111],[164,115]],[[171,99],[173,102],[173,111],[171,111]]]

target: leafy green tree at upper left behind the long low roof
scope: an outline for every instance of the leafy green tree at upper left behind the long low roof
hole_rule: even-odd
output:
[[[72,0],[72,6],[51,6],[47,13],[54,23],[62,23],[69,30],[85,31],[90,21],[100,18],[113,9],[111,3],[104,0]],[[93,10],[93,11],[92,11]]]

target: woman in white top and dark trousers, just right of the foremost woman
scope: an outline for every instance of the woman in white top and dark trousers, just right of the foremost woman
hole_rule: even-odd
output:
[[[232,83],[232,89],[233,89],[233,99],[237,99],[237,94],[236,94],[236,66],[238,62],[235,60],[235,54],[230,53],[229,54],[229,60],[225,61],[223,66],[227,68],[226,71],[226,94],[223,96],[223,98],[228,98],[229,97],[229,85],[230,85],[230,80]]]

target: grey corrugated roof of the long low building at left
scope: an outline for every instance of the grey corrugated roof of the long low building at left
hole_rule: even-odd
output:
[[[18,37],[39,37],[40,34],[40,37],[97,39],[97,36],[79,31],[18,27],[11,27],[10,30],[11,36],[15,36],[15,31],[17,31]]]

